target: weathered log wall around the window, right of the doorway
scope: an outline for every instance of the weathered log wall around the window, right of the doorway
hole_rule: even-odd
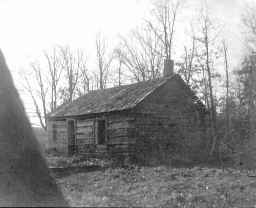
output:
[[[97,146],[98,119],[106,118],[107,147]],[[104,115],[104,117],[76,120],[76,152],[79,153],[109,153],[125,152],[127,145],[133,144],[131,123],[134,121],[127,115]]]

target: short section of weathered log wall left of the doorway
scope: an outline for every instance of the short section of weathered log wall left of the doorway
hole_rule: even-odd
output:
[[[47,122],[47,149],[55,150],[61,154],[68,153],[68,139],[67,139],[67,122],[53,121],[48,119]]]

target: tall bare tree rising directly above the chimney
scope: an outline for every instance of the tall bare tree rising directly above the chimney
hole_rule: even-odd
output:
[[[181,9],[182,2],[177,0],[155,1],[152,16],[156,18],[157,25],[150,19],[145,19],[148,26],[154,31],[163,44],[165,57],[170,59],[172,55],[173,35],[175,32],[175,22]]]

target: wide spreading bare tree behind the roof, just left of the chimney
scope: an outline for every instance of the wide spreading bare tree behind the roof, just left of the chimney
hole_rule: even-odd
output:
[[[123,63],[137,82],[161,75],[163,48],[151,28],[131,31],[130,39],[119,36],[124,44]]]

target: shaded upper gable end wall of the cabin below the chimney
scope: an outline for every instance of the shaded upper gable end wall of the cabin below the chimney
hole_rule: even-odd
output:
[[[134,125],[145,130],[157,129],[157,126],[182,126],[188,132],[203,129],[203,125],[198,125],[197,117],[201,113],[197,112],[194,102],[193,92],[183,80],[169,80],[133,109]]]

